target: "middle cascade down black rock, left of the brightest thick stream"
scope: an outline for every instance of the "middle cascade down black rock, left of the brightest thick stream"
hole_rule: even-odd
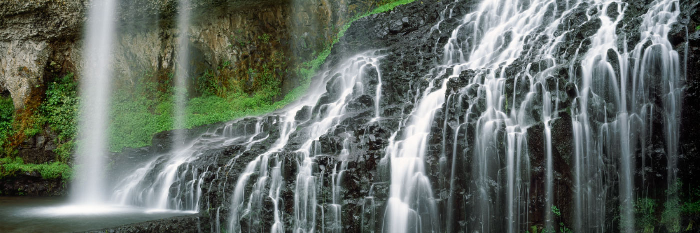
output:
[[[318,164],[316,158],[323,156],[332,156],[326,154],[330,151],[323,151],[320,147],[320,137],[326,133],[339,130],[337,128],[340,121],[343,121],[347,116],[346,108],[351,100],[365,94],[365,83],[367,73],[372,71],[378,72],[379,59],[381,52],[367,52],[344,61],[336,70],[327,71],[318,76],[320,82],[317,82],[314,87],[309,90],[309,94],[302,98],[301,101],[289,106],[286,112],[281,112],[281,136],[270,149],[258,156],[253,162],[249,163],[246,170],[241,174],[232,199],[230,225],[228,232],[241,232],[241,219],[247,218],[251,221],[259,220],[259,214],[262,211],[262,196],[269,190],[267,197],[274,202],[274,219],[271,232],[283,232],[283,220],[281,219],[281,210],[279,209],[280,189],[284,182],[284,177],[281,176],[281,161],[279,153],[282,149],[292,149],[293,158],[298,165],[298,174],[295,179],[297,185],[294,195],[294,232],[316,232],[318,224],[316,216],[319,211],[318,206],[323,207],[318,203],[316,188],[321,184],[323,177],[314,176],[318,172]],[[379,75],[377,78],[380,79]],[[378,80],[377,80],[378,82]],[[328,86],[328,87],[326,87]],[[377,95],[379,95],[377,93]],[[318,105],[317,105],[318,104]],[[309,106],[318,106],[309,111]],[[311,114],[308,119],[300,120],[297,115]],[[300,128],[303,126],[303,128]],[[346,135],[349,137],[350,135]],[[290,137],[295,137],[299,142],[297,148],[290,148],[288,143]],[[332,176],[334,188],[332,191],[332,202],[328,205],[330,214],[335,215],[335,219],[339,221],[338,213],[342,211],[339,192],[339,183],[342,179],[342,171],[346,166],[345,160],[348,155],[348,148],[343,148],[340,151],[337,160],[339,161],[339,170],[334,167]],[[268,162],[272,161],[272,162]],[[268,167],[269,165],[269,167]],[[330,169],[330,168],[329,168]],[[246,184],[251,180],[251,176],[257,174],[258,179],[253,185],[253,189],[249,192],[246,203]],[[337,177],[336,177],[337,176]],[[268,181],[272,179],[272,181]],[[320,211],[325,211],[321,208]],[[342,223],[334,223],[337,227],[342,226]],[[248,230],[258,229],[260,223],[250,222]],[[331,227],[333,228],[333,227]],[[337,228],[336,228],[337,229]],[[325,229],[323,229],[325,230]]]

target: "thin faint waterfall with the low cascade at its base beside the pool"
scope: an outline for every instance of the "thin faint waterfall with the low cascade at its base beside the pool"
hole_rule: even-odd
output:
[[[177,22],[179,36],[176,53],[174,126],[182,129],[186,126],[187,79],[190,71],[190,1],[179,1]],[[196,146],[195,142],[187,143],[183,132],[174,131],[172,151],[155,156],[118,181],[112,200],[119,204],[155,209],[198,211],[202,195],[202,177],[209,171],[190,165],[201,153],[202,146]],[[153,174],[154,172],[157,174]],[[176,188],[176,191],[173,192],[172,188]]]

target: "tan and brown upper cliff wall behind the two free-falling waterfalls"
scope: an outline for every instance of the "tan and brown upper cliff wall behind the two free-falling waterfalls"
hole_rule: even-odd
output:
[[[117,77],[172,73],[176,27],[174,0],[122,1],[116,40]],[[283,51],[308,61],[325,49],[351,17],[375,1],[195,1],[189,38],[201,74],[224,62],[260,61]],[[0,90],[21,109],[45,82],[61,73],[80,73],[83,27],[90,1],[3,1],[0,3]],[[265,38],[263,40],[262,38]],[[264,45],[277,41],[273,46]],[[293,55],[292,55],[293,54]],[[237,68],[237,67],[233,67]],[[247,68],[246,68],[247,69]],[[80,76],[80,75],[78,75]],[[133,82],[133,81],[132,81]],[[293,84],[288,84],[290,87]]]

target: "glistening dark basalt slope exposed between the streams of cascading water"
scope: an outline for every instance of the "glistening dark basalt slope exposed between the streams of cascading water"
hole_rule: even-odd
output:
[[[344,38],[335,45],[332,54],[328,57],[325,63],[325,68],[333,70],[342,66],[342,63],[351,57],[352,54],[358,54],[367,50],[381,50],[381,99],[379,99],[379,112],[381,118],[374,119],[376,89],[378,82],[367,81],[363,82],[364,86],[361,90],[362,95],[355,96],[349,100],[346,114],[342,115],[338,120],[338,125],[318,137],[314,150],[316,154],[322,154],[314,158],[315,165],[311,170],[311,174],[317,177],[316,193],[314,200],[318,202],[314,221],[315,229],[321,230],[339,230],[344,232],[370,232],[372,230],[381,231],[385,224],[385,210],[390,194],[391,171],[388,170],[386,160],[387,146],[393,140],[393,132],[405,127],[405,124],[410,121],[409,114],[418,105],[418,96],[425,91],[425,87],[429,84],[429,79],[437,79],[438,84],[447,82],[447,91],[444,98],[447,100],[440,110],[435,114],[435,119],[432,123],[432,130],[428,137],[428,147],[426,148],[426,172],[430,180],[430,185],[433,188],[435,202],[440,213],[449,213],[450,218],[440,219],[442,229],[447,232],[470,232],[474,229],[479,229],[480,223],[475,223],[472,220],[483,218],[484,211],[470,211],[472,206],[477,206],[477,196],[479,190],[475,188],[474,172],[475,159],[470,156],[475,150],[475,140],[479,135],[475,134],[477,128],[478,114],[485,111],[486,100],[484,97],[479,97],[478,85],[469,85],[470,81],[477,75],[486,72],[484,70],[465,70],[458,77],[454,77],[447,81],[447,75],[444,77],[427,77],[430,74],[430,68],[435,67],[443,62],[444,45],[449,40],[448,31],[453,31],[461,24],[455,17],[448,19],[440,18],[445,9],[450,9],[454,15],[465,15],[472,10],[475,10],[477,1],[458,1],[457,3],[446,3],[443,1],[416,1],[407,6],[401,6],[388,13],[372,15],[353,23],[353,26],[345,33]],[[624,30],[619,33],[624,33],[626,38],[632,38],[628,43],[636,44],[633,38],[638,38],[639,20],[649,10],[650,4],[640,3],[638,1],[629,1],[629,10],[624,15],[623,22]],[[693,119],[700,117],[699,111],[696,111],[697,89],[699,76],[698,56],[700,50],[694,41],[697,31],[695,27],[699,25],[698,16],[695,5],[697,3],[682,3],[682,15],[678,29],[675,33],[671,33],[671,37],[678,38],[672,40],[675,50],[682,54],[681,61],[687,61],[687,80],[684,80],[686,89],[683,93],[683,108],[682,122],[680,132],[680,156],[678,175],[682,180],[692,179],[698,171],[697,162],[699,153],[697,149],[697,140],[700,137],[695,137],[698,130],[697,124],[693,123]],[[586,13],[587,6],[573,9],[568,22],[575,22],[576,25],[582,25],[573,31],[561,28],[555,33],[570,33],[568,40],[559,46],[559,56],[556,57],[557,63],[563,64],[580,64],[581,57],[573,56],[584,54],[589,50],[590,43],[587,42],[591,35],[594,35],[601,27],[600,20],[589,20]],[[614,13],[611,13],[614,14]],[[440,22],[438,24],[438,22]],[[436,26],[437,25],[437,26]],[[685,37],[685,30],[690,36]],[[438,33],[441,31],[441,33]],[[463,32],[466,33],[466,32]],[[542,46],[540,39],[533,38],[528,47]],[[685,57],[687,54],[687,57]],[[517,61],[512,65],[498,72],[505,72],[507,77],[517,77],[527,70],[544,69],[547,63],[538,61],[538,58],[528,56],[528,53],[521,54]],[[685,66],[685,64],[683,65]],[[365,77],[367,80],[376,80],[378,73],[368,73]],[[554,111],[558,112],[558,117],[551,122],[549,128],[552,131],[552,165],[554,168],[553,183],[554,190],[553,202],[556,203],[560,210],[561,216],[557,217],[557,221],[573,225],[575,206],[573,195],[574,179],[573,170],[575,166],[575,143],[573,142],[573,117],[570,108],[575,103],[577,97],[576,85],[572,81],[570,75],[577,75],[576,70],[570,70],[570,66],[556,67],[547,83],[550,87],[558,87],[552,91],[552,96],[557,96],[559,105],[556,105]],[[318,77],[316,77],[318,79]],[[314,80],[318,81],[318,80]],[[506,93],[514,93],[517,90],[515,80],[506,80],[504,89]],[[233,196],[237,186],[244,186],[246,195],[244,202],[248,203],[248,197],[253,198],[251,192],[256,189],[256,186],[265,186],[272,181],[266,181],[262,184],[255,183],[254,180],[262,174],[253,172],[246,174],[248,169],[246,166],[256,160],[257,156],[265,154],[270,147],[274,146],[281,137],[283,137],[284,125],[281,123],[279,114],[273,113],[265,117],[251,117],[240,119],[225,124],[225,126],[212,126],[209,133],[204,133],[197,141],[196,145],[201,146],[194,160],[188,163],[187,170],[197,170],[196,174],[186,174],[183,181],[176,182],[185,183],[193,181],[193,183],[201,183],[202,197],[200,200],[200,210],[211,216],[209,227],[207,230],[219,232],[227,229],[231,221],[239,223],[242,232],[253,232],[258,230],[267,231],[276,226],[276,211],[281,211],[281,224],[284,230],[294,231],[294,227],[299,225],[311,224],[308,222],[298,223],[297,211],[298,206],[295,206],[295,197],[300,195],[297,187],[301,184],[297,181],[297,177],[303,171],[300,154],[298,149],[304,143],[304,137],[309,133],[305,127],[311,127],[310,123],[303,123],[309,119],[318,119],[323,116],[328,110],[328,105],[339,98],[340,89],[336,87],[336,82],[329,82],[328,87],[323,87],[326,91],[324,96],[319,98],[318,103],[301,108],[293,116],[293,119],[300,122],[297,130],[288,137],[288,141],[283,145],[283,149],[274,152],[275,160],[264,160],[262,166],[272,170],[275,165],[279,165],[281,176],[284,177],[283,184],[280,186],[279,199],[272,198],[271,190],[262,189],[264,192],[260,199],[249,202],[255,207],[255,211],[246,212],[243,216],[234,216],[236,209],[232,209]],[[360,89],[360,87],[357,87]],[[525,93],[519,93],[524,95]],[[542,93],[538,93],[540,95]],[[661,98],[662,93],[653,92],[654,98]],[[540,96],[541,97],[541,96]],[[540,98],[541,99],[541,98]],[[467,103],[468,102],[468,103]],[[473,103],[470,105],[470,103]],[[528,200],[526,207],[527,213],[521,213],[520,216],[526,221],[522,221],[518,227],[522,229],[530,229],[533,225],[545,225],[545,216],[549,209],[547,206],[547,194],[545,186],[547,180],[547,151],[545,131],[545,123],[543,123],[542,101],[533,102],[535,107],[531,117],[533,119],[532,126],[529,126],[526,135],[526,146],[528,163],[531,167],[526,174],[525,179],[528,179],[526,190],[521,190],[526,193],[519,196]],[[464,106],[472,106],[473,109],[466,109]],[[654,103],[655,108],[662,109],[660,100]],[[612,110],[610,110],[612,111]],[[614,112],[612,112],[614,116]],[[664,126],[663,118],[658,117],[662,114],[654,113],[654,128]],[[600,121],[605,121],[606,116],[596,116]],[[609,116],[608,116],[609,117]],[[596,120],[598,120],[596,119]],[[260,133],[255,130],[255,126],[262,128]],[[245,140],[246,143],[226,144],[221,141],[213,140],[207,142],[208,138],[215,138],[216,135],[226,135],[227,130],[235,131],[230,133],[230,138],[250,137]],[[500,133],[505,135],[505,129],[497,128]],[[647,142],[649,149],[652,151],[647,154],[636,154],[636,176],[639,174],[650,174],[653,177],[647,177],[646,180],[638,179],[634,187],[643,188],[649,183],[654,183],[654,186],[659,186],[654,190],[649,190],[646,195],[651,197],[664,197],[664,189],[667,185],[666,177],[666,141],[664,133],[655,133],[650,142]],[[401,131],[398,131],[399,134]],[[502,136],[498,140],[503,142],[507,137]],[[253,142],[249,144],[248,142]],[[214,143],[216,142],[216,143]],[[246,148],[246,145],[251,145]],[[494,143],[490,149],[503,151],[503,144]],[[339,156],[344,152],[341,149],[351,151],[347,156],[347,167],[343,178],[338,186],[334,183],[337,180],[331,175],[334,167],[339,165]],[[461,151],[458,154],[467,156],[456,156],[453,151]],[[144,153],[141,156],[149,156],[150,152],[134,152]],[[646,156],[642,158],[642,156]],[[617,164],[611,158],[606,163]],[[642,160],[645,163],[642,164]],[[388,161],[391,163],[391,161]],[[504,158],[499,158],[499,167],[505,167],[507,163]],[[183,168],[184,170],[185,168]],[[197,177],[197,174],[201,174]],[[155,177],[155,172],[151,176]],[[239,183],[241,177],[250,176],[253,180],[249,182]],[[197,179],[199,179],[197,181]],[[502,191],[504,178],[493,182],[493,191],[490,196],[493,197],[491,202],[497,206],[494,209],[503,209],[503,203],[507,202],[507,196]],[[612,181],[618,182],[618,181]],[[176,186],[177,186],[176,185]],[[615,185],[611,185],[615,186]],[[340,220],[342,225],[334,225],[337,219],[332,216],[333,204],[335,202],[333,188],[341,188],[342,191],[342,213]],[[269,191],[269,195],[267,194]],[[641,192],[642,190],[635,190]],[[179,191],[172,190],[171,195],[177,195]],[[619,206],[621,200],[617,198],[619,193],[611,191],[608,195],[610,199],[606,200],[605,206]],[[245,208],[245,207],[238,207]],[[249,208],[249,207],[248,207]],[[496,216],[497,213],[503,211],[493,211],[487,216],[493,221],[492,225],[498,225],[493,228],[494,231],[504,231],[507,225],[503,216]],[[604,215],[607,219],[615,219],[619,216],[619,207],[611,207],[605,211]],[[234,218],[234,219],[232,219]],[[684,224],[688,223],[684,219]],[[502,223],[502,224],[500,224]],[[499,225],[500,224],[500,225]],[[558,224],[558,223],[557,223]],[[304,225],[309,227],[309,225]],[[611,222],[604,226],[608,231],[619,231],[619,223]],[[384,228],[386,229],[386,228]],[[665,230],[661,228],[661,230]]]

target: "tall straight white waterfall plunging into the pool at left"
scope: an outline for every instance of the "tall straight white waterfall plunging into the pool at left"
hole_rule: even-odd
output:
[[[80,82],[78,167],[71,197],[80,204],[106,200],[104,167],[108,151],[107,122],[111,93],[111,56],[116,1],[92,1],[85,31],[85,70]]]

